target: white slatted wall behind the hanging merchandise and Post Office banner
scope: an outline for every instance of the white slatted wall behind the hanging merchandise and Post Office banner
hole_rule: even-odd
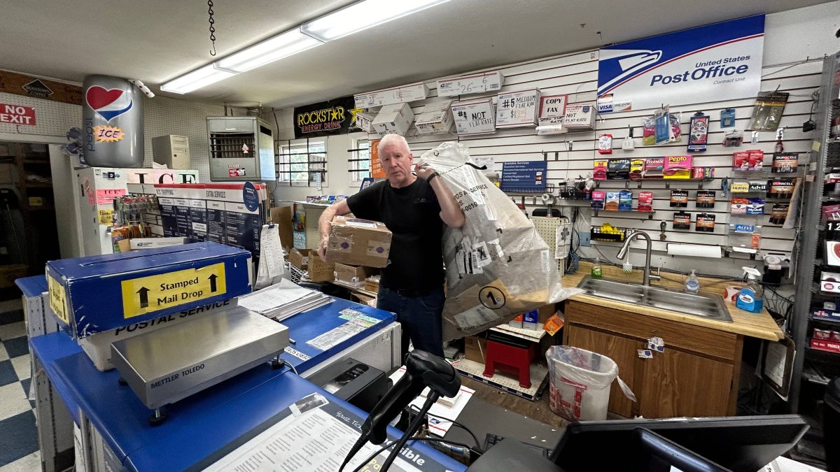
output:
[[[834,51],[840,49],[840,40],[834,38],[834,33],[837,31],[837,24],[840,23],[840,2],[827,3],[811,8],[801,8],[784,13],[774,13],[767,16],[765,25],[765,44],[764,44],[764,71],[763,76],[766,76],[762,81],[762,91],[773,91],[778,88],[782,92],[790,92],[790,101],[787,108],[785,108],[785,116],[782,121],[782,126],[785,126],[785,151],[806,153],[811,147],[811,139],[813,134],[803,134],[801,131],[801,123],[806,121],[808,113],[811,108],[811,92],[816,90],[819,84],[819,74],[822,71],[822,63],[814,61],[813,58],[822,58],[823,54],[832,54]],[[595,54],[593,54],[595,53]],[[789,63],[796,61],[804,61],[810,57],[812,61],[801,65],[790,66]],[[783,64],[784,66],[774,66]],[[597,60],[596,51],[581,51],[580,53],[559,55],[545,58],[542,60],[530,60],[511,66],[493,67],[487,70],[501,70],[506,76],[505,87],[501,92],[512,92],[517,90],[524,90],[527,88],[538,87],[543,94],[549,93],[566,93],[569,94],[570,103],[575,102],[594,102],[596,99],[596,82],[597,82]],[[463,71],[458,75],[467,74],[474,71]],[[427,85],[433,89],[426,101],[412,102],[412,111],[422,113],[424,105],[428,102],[436,102],[441,99],[437,97],[436,87],[437,78],[430,78]],[[495,94],[494,94],[495,95]],[[470,95],[465,98],[477,98],[480,95]],[[696,165],[715,166],[717,168],[717,179],[712,182],[704,184],[704,188],[715,190],[721,186],[722,177],[731,177],[732,171],[732,151],[733,149],[723,148],[722,131],[719,126],[719,112],[722,108],[736,108],[738,114],[738,122],[736,127],[743,129],[747,126],[748,119],[751,116],[753,108],[753,98],[747,98],[731,102],[715,102],[695,103],[687,106],[672,106],[671,111],[682,113],[682,132],[687,134],[688,121],[690,114],[697,110],[704,110],[711,115],[711,133],[709,138],[709,149],[701,155],[696,155]],[[291,127],[291,111],[278,112],[278,116],[287,118],[288,126]],[[611,133],[613,139],[621,139],[627,133],[627,126],[631,125],[635,128],[635,135],[641,136],[641,118],[650,115],[650,110],[633,111],[627,113],[613,113],[601,117],[601,120],[596,125],[596,130],[588,133],[575,133],[566,136],[536,136],[533,128],[518,128],[500,130],[495,134],[473,137],[458,137],[457,134],[438,135],[430,137],[411,137],[413,129],[408,131],[408,141],[412,146],[414,155],[421,155],[428,149],[433,149],[434,146],[445,140],[460,140],[470,145],[470,152],[472,155],[491,156],[496,161],[497,170],[501,170],[501,162],[515,161],[515,160],[542,160],[543,151],[550,153],[549,157],[549,183],[559,184],[559,182],[566,180],[566,178],[573,179],[579,175],[591,175],[592,161],[600,155],[596,153],[596,136],[602,133]],[[286,122],[286,120],[284,120]],[[281,123],[283,127],[283,123]],[[567,140],[574,140],[574,146],[571,151],[568,149]],[[774,134],[762,133],[760,134],[759,144],[746,144],[740,149],[763,149],[765,153],[771,153],[774,149]],[[622,153],[619,151],[618,155],[621,157],[654,157],[663,155],[674,155],[685,153],[685,138],[680,144],[671,146],[659,146],[657,148],[641,146],[641,139],[636,139],[636,151],[631,153]],[[554,152],[559,153],[559,159],[554,160]],[[616,156],[618,156],[616,155]],[[342,165],[341,160],[344,156],[337,156],[330,153],[329,155],[329,172],[333,173],[333,168],[338,168]],[[693,185],[693,190],[696,190],[696,184]],[[608,182],[602,185],[606,188],[620,189],[624,188],[623,182]],[[636,185],[631,186],[634,196],[638,195]],[[688,187],[686,187],[688,189]],[[698,269],[703,273],[721,274],[721,275],[740,275],[742,265],[753,265],[750,261],[744,260],[710,260],[693,257],[676,258],[664,254],[667,243],[686,242],[695,244],[709,244],[709,245],[727,245],[727,222],[729,219],[728,213],[728,198],[722,198],[720,192],[717,196],[717,205],[714,209],[706,210],[705,212],[716,213],[718,223],[715,232],[696,233],[694,231],[674,231],[671,229],[670,220],[672,219],[673,209],[669,208],[668,190],[664,189],[664,184],[659,182],[646,181],[641,190],[654,191],[654,209],[658,212],[654,215],[654,220],[648,221],[641,219],[638,216],[610,213],[609,218],[596,218],[591,210],[585,208],[582,211],[582,216],[585,224],[580,225],[581,230],[588,231],[589,224],[600,226],[601,223],[612,223],[613,225],[624,228],[639,228],[648,230],[649,233],[656,235],[659,233],[659,222],[662,220],[668,223],[667,241],[654,242],[654,250],[657,251],[654,256],[654,265],[661,265],[666,268],[687,271],[690,269]],[[332,193],[332,192],[330,192]],[[693,198],[693,191],[690,191],[690,196]],[[291,195],[291,192],[285,191],[283,188],[278,188],[276,195],[286,198],[286,195]],[[298,194],[295,194],[298,195]],[[297,198],[297,197],[296,197]],[[530,198],[516,197],[518,202],[525,202],[528,204],[528,212],[533,211],[535,206]],[[562,204],[562,203],[561,203]],[[699,212],[694,208],[689,208],[688,211],[692,213]],[[564,208],[564,214],[570,214],[571,208]],[[605,213],[601,213],[603,217]],[[692,215],[694,219],[696,215]],[[795,229],[784,229],[779,225],[770,225],[769,217],[765,216],[762,223],[764,228],[762,230],[763,240],[761,249],[763,252],[778,251],[785,254],[790,254],[793,250]],[[592,248],[583,248],[581,252],[589,257],[599,255],[597,250],[606,254],[608,259],[616,260],[617,244],[596,243],[597,246]],[[639,247],[641,244],[633,244],[633,247]],[[641,251],[632,251],[632,261],[634,265],[641,265],[643,263],[643,254]],[[759,262],[760,264],[760,262]]]

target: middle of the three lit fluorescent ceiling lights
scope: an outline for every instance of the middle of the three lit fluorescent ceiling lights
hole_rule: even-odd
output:
[[[302,34],[299,29],[291,29],[269,39],[240,50],[214,64],[223,71],[244,72],[255,67],[265,66],[269,62],[283,59],[290,55],[323,45],[318,39]]]

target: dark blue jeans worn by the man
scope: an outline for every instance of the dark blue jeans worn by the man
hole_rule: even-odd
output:
[[[376,307],[396,313],[402,324],[402,360],[408,352],[408,339],[414,349],[444,357],[444,337],[441,315],[444,312],[444,288],[439,287],[424,296],[402,296],[385,286],[379,287]]]

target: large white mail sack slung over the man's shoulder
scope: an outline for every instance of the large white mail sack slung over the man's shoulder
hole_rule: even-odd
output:
[[[549,245],[522,210],[472,165],[465,144],[440,144],[417,163],[438,171],[466,217],[463,228],[444,232],[444,340],[583,293],[560,285]]]

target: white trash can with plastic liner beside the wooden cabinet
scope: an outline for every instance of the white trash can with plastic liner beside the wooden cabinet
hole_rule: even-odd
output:
[[[552,346],[545,353],[549,362],[549,407],[571,422],[606,420],[610,385],[618,379],[624,395],[636,396],[618,378],[614,360],[572,346]]]

